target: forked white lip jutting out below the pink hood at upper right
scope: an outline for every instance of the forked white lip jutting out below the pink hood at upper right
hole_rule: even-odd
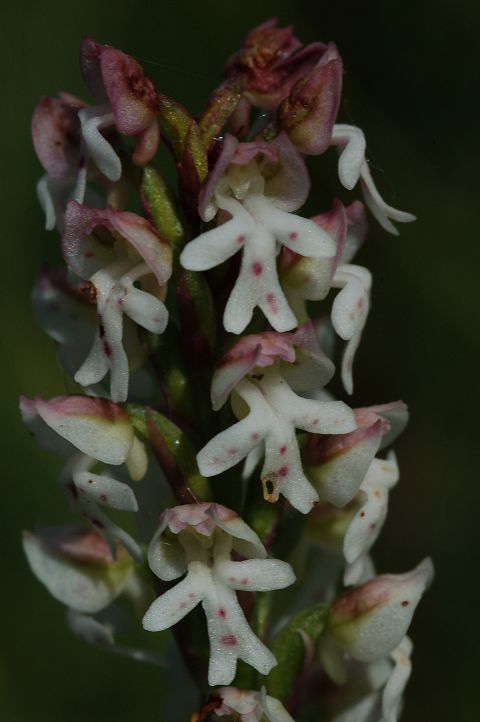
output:
[[[365,157],[367,146],[363,131],[353,125],[334,125],[331,143],[340,148],[338,161],[340,183],[348,190],[352,190],[360,180],[365,203],[372,215],[388,233],[398,236],[392,220],[397,223],[409,223],[415,220],[415,216],[389,206],[380,196]]]

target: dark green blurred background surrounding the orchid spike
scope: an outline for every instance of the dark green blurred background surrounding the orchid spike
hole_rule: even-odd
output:
[[[334,40],[345,63],[341,122],[361,126],[387,201],[418,215],[387,236],[372,221],[359,262],[373,271],[373,310],[356,361],[354,405],[408,402],[396,445],[401,482],[375,549],[380,572],[432,555],[434,586],[415,616],[405,722],[478,719],[478,88],[480,5],[472,0],[83,0],[10,3],[3,11],[3,409],[0,719],[162,722],[162,672],[88,648],[30,574],[20,531],[58,523],[58,465],[19,420],[20,393],[53,396],[66,380],[37,328],[30,288],[60,263],[43,230],[30,140],[40,95],[87,97],[78,70],[92,35],[139,59],[162,92],[197,112],[245,33],[277,16],[305,42]],[[322,164],[314,159],[313,173]],[[315,198],[313,199],[315,201]],[[318,197],[316,210],[325,210]],[[181,695],[182,690],[178,689]],[[168,720],[167,720],[168,722]]]

